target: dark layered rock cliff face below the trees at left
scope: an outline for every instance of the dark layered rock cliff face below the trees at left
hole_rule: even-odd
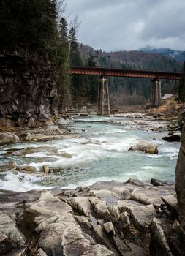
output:
[[[35,127],[38,121],[55,116],[57,110],[56,77],[49,64],[20,56],[0,56],[1,126]]]

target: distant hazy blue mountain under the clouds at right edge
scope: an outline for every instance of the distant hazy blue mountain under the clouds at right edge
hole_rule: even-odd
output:
[[[146,48],[141,48],[140,50],[146,53],[157,53],[162,56],[167,56],[179,62],[185,61],[185,51],[183,50],[172,50],[169,48],[151,48],[150,46],[147,46]]]

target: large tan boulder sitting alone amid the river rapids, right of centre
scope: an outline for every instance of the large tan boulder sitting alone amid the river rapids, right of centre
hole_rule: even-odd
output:
[[[129,148],[129,151],[142,151],[146,154],[158,154],[157,146],[146,141],[141,141],[140,143],[137,143],[137,145]]]

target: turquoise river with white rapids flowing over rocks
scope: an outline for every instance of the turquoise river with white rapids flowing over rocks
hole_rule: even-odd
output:
[[[125,122],[120,124],[121,120]],[[13,160],[17,165],[34,166],[37,172],[1,172],[0,188],[26,191],[61,186],[73,189],[96,181],[129,178],[174,182],[180,143],[162,140],[167,132],[128,129],[127,121],[129,123],[127,117],[74,116],[68,129],[80,135],[79,138],[1,146],[0,165]],[[128,151],[141,140],[156,143],[159,154]],[[46,176],[43,165],[60,171]]]

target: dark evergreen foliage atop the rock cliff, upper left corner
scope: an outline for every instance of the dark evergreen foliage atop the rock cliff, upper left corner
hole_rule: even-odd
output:
[[[56,16],[53,0],[1,0],[1,50],[52,55],[56,48]]]

